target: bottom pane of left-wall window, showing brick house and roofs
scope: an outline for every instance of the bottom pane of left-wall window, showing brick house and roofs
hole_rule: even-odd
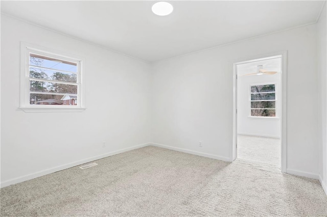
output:
[[[77,96],[30,94],[30,104],[35,105],[77,105]]]

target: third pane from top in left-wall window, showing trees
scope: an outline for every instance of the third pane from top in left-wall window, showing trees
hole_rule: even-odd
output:
[[[36,80],[30,80],[30,91],[77,94],[77,85],[37,82]]]

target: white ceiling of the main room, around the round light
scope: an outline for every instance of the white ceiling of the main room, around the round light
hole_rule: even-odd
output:
[[[158,1],[155,1],[158,2]],[[154,62],[315,22],[323,1],[1,1],[2,13]]]

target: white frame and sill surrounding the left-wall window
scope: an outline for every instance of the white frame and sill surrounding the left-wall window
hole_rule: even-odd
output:
[[[67,54],[62,51],[33,45],[27,42],[20,44],[21,69],[20,69],[20,109],[25,112],[82,112],[85,110],[85,94],[83,81],[83,58]],[[30,104],[30,53],[69,61],[77,64],[77,105],[36,105]],[[51,80],[49,80],[51,82]]]

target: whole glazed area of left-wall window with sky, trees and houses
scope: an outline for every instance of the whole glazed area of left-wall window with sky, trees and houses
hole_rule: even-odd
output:
[[[29,52],[29,104],[78,105],[79,62]]]

